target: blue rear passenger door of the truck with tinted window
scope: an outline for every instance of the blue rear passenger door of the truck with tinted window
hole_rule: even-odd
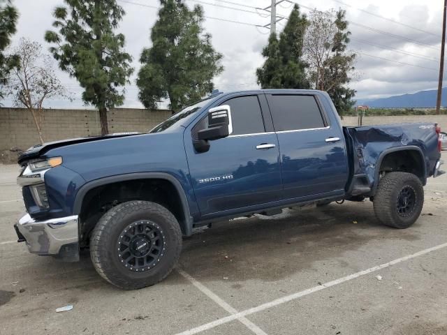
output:
[[[344,137],[318,98],[267,94],[279,141],[283,198],[323,198],[344,192],[348,165]]]

